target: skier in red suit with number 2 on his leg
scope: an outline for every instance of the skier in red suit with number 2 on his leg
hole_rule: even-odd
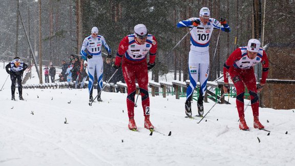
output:
[[[147,53],[150,54],[149,63],[146,63]],[[136,25],[134,34],[125,36],[119,44],[114,67],[118,69],[122,61],[123,76],[128,87],[127,109],[129,116],[128,128],[130,130],[137,130],[134,120],[135,79],[138,82],[141,94],[144,128],[154,129],[150,121],[150,98],[147,91],[149,76],[147,70],[155,66],[156,53],[157,40],[155,36],[147,33],[143,24]]]

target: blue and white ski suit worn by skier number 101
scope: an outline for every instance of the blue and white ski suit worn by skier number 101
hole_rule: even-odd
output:
[[[209,18],[207,24],[201,23],[197,27],[192,25],[194,20],[200,20],[200,18],[188,18],[177,24],[177,28],[188,27],[191,30],[191,51],[189,51],[188,55],[188,71],[191,84],[189,84],[186,90],[186,100],[192,96],[197,86],[198,74],[200,75],[201,85],[200,96],[205,95],[209,75],[209,42],[213,30],[221,29],[222,31],[230,32],[227,24],[223,26],[215,18]]]

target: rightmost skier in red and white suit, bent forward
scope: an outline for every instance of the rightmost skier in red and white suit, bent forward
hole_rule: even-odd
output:
[[[259,62],[262,63],[262,78],[260,84],[256,86],[256,78],[253,66]],[[250,39],[247,47],[239,47],[226,60],[223,66],[224,74],[224,93],[228,93],[229,85],[227,74],[237,89],[237,109],[240,117],[239,128],[241,130],[249,130],[244,118],[244,93],[245,86],[247,87],[250,98],[251,108],[254,116],[254,128],[264,129],[264,126],[259,121],[259,93],[266,82],[268,74],[268,58],[265,51],[260,48],[260,41],[257,39]]]

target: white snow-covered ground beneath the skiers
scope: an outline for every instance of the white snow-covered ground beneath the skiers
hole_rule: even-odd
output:
[[[0,63],[1,87],[7,75]],[[33,76],[28,84],[38,83]],[[185,98],[150,97],[151,121],[165,134],[150,136],[141,107],[135,108],[139,132],[128,129],[126,94],[102,92],[103,102],[90,107],[87,89],[24,89],[25,101],[12,101],[10,85],[8,78],[0,92],[1,166],[295,165],[293,110],[260,108],[267,135],[253,128],[250,107],[250,131],[239,130],[234,98],[231,105],[217,104],[198,124],[184,118]],[[204,103],[205,113],[213,105]],[[196,114],[196,102],[192,106]]]

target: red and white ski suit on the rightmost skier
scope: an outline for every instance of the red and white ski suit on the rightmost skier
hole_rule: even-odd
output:
[[[256,57],[250,59],[247,55],[247,47],[236,49],[226,60],[223,66],[224,82],[228,83],[227,73],[237,89],[237,109],[239,117],[244,117],[244,93],[247,87],[253,116],[259,116],[259,98],[256,89],[256,77],[253,66],[262,63],[262,78],[260,83],[265,84],[268,74],[268,58],[265,51],[260,48]]]

